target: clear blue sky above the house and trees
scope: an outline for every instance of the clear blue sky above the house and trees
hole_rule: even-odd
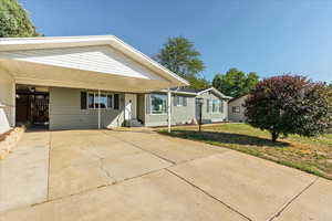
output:
[[[330,0],[19,1],[48,36],[114,34],[147,55],[169,36],[188,38],[208,80],[238,67],[332,82]]]

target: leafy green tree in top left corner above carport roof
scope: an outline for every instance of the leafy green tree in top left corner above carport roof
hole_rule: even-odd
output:
[[[0,38],[38,35],[27,11],[17,0],[0,0]]]

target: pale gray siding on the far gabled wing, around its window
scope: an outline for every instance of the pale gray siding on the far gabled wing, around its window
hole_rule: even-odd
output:
[[[203,112],[201,112],[201,118],[203,123],[216,123],[216,122],[225,122],[227,120],[228,116],[228,107],[227,107],[227,101],[220,99],[220,97],[216,96],[212,92],[206,92],[198,97],[204,98],[203,104]],[[207,99],[220,99],[222,102],[222,112],[221,113],[212,113],[211,109],[207,112]]]

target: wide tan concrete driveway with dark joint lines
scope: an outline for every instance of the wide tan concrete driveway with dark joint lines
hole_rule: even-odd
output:
[[[332,182],[153,131],[25,133],[0,220],[332,220]]]

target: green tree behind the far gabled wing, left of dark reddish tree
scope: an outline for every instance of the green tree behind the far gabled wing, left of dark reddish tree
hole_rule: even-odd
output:
[[[216,74],[212,85],[228,96],[239,97],[255,88],[258,81],[259,77],[255,72],[246,74],[237,69],[230,69],[226,74]]]

